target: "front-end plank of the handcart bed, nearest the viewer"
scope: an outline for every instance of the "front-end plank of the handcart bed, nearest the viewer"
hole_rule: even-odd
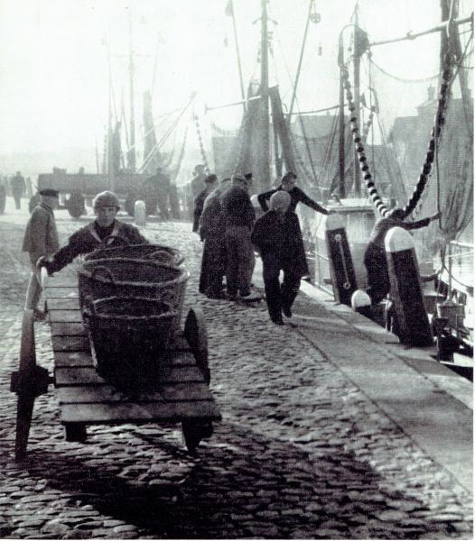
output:
[[[61,423],[180,422],[189,418],[220,420],[221,416],[218,406],[211,400],[141,404],[74,404],[60,408]]]

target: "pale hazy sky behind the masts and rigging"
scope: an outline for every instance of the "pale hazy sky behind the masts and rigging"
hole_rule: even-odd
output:
[[[470,11],[469,2],[462,4]],[[354,5],[354,0],[316,0],[321,23],[310,26],[298,90],[302,110],[338,101],[337,43]],[[192,90],[199,92],[200,104],[238,100],[236,53],[225,6],[226,0],[0,0],[0,153],[75,146],[94,151],[96,141],[102,144],[107,124],[106,39],[116,104],[124,99],[128,110],[130,10],[137,55],[137,129],[141,95],[154,78],[155,50],[155,115],[182,106]],[[370,41],[424,30],[440,19],[439,0],[360,0],[359,9]],[[259,74],[259,24],[253,22],[260,1],[235,0],[235,10],[247,81]],[[271,66],[287,105],[289,72],[293,77],[307,10],[308,0],[270,0],[269,14],[278,23],[269,24],[274,31]],[[434,35],[419,40],[415,54],[404,44],[380,47],[374,59],[402,78],[429,77],[438,69],[438,40]],[[217,118],[236,123],[238,108],[233,112]]]

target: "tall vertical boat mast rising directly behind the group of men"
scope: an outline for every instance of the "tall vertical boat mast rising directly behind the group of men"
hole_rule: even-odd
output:
[[[260,190],[270,188],[270,152],[269,152],[269,54],[267,34],[267,2],[261,0],[261,156],[259,182]]]

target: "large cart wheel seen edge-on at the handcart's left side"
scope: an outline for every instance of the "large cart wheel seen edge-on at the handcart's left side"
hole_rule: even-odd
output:
[[[34,346],[33,310],[23,311],[22,338],[20,345],[20,370],[16,393],[18,395],[16,406],[16,435],[14,440],[15,460],[22,460],[26,455],[28,436],[32,424],[33,405],[35,399],[35,386],[33,381],[22,378],[36,368],[36,353]]]

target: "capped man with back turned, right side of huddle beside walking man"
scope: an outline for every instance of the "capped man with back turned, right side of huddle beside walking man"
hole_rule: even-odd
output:
[[[228,298],[235,300],[239,293],[242,300],[256,300],[260,297],[251,292],[255,264],[251,230],[256,214],[248,194],[250,183],[240,175],[234,175],[232,182],[232,187],[223,194],[221,200],[228,258]]]

